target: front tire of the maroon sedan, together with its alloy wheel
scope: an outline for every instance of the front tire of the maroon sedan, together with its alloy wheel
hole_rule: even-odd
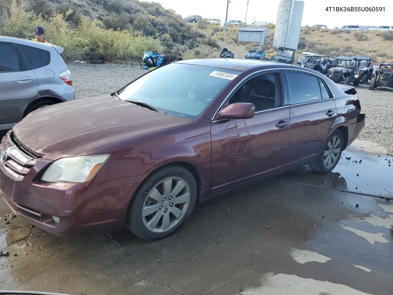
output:
[[[170,194],[165,195],[164,183],[168,185],[169,191],[174,192],[176,184],[179,184],[181,181],[185,184],[182,190],[175,196]],[[187,193],[189,195],[188,201],[187,197],[185,197],[187,203],[174,204],[176,196]],[[138,238],[145,241],[166,238],[174,234],[189,218],[195,206],[196,194],[197,186],[195,178],[184,167],[172,165],[156,170],[147,177],[132,197],[128,209],[126,227]],[[149,204],[147,205],[147,203]],[[173,212],[176,214],[182,213],[183,216],[178,219]],[[166,224],[164,225],[164,223]],[[148,228],[149,226],[150,229]],[[163,229],[164,226],[168,228]]]

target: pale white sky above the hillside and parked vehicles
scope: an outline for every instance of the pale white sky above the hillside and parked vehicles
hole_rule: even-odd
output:
[[[231,19],[244,22],[248,1],[246,22],[254,21],[275,23],[280,0],[230,0],[228,8],[228,21]],[[221,24],[225,22],[227,0],[148,0],[158,2],[165,8],[172,8],[176,13],[187,15],[200,15],[206,18],[219,18]],[[393,26],[391,15],[393,1],[391,0],[303,0],[304,10],[301,25],[325,25],[328,28],[345,25],[359,26]],[[378,3],[378,4],[377,4]],[[335,12],[325,11],[326,7],[385,7],[382,12]]]

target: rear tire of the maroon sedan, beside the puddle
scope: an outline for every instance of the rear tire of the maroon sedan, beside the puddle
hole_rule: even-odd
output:
[[[340,142],[338,143],[339,146],[336,146],[336,149],[330,149],[329,144],[333,143],[334,145],[336,145],[337,141],[334,142],[333,140],[337,140],[337,139],[340,140]],[[343,137],[342,133],[339,130],[334,131],[331,134],[331,136],[329,136],[329,139],[327,140],[327,142],[323,145],[323,149],[322,149],[318,159],[315,162],[309,164],[310,169],[315,172],[318,172],[318,173],[331,172],[334,169],[334,167],[336,167],[336,165],[338,164],[338,161],[340,160],[341,153],[343,151],[343,143],[344,143],[344,137]],[[339,151],[338,151],[338,153],[336,153],[338,147],[339,147]],[[329,151],[329,153],[331,151],[332,152],[334,151],[334,153],[333,154],[328,153],[327,155],[325,155],[325,153],[327,151]],[[332,158],[333,156],[334,156],[334,158]],[[332,163],[332,161],[329,162],[329,160],[328,160],[327,164],[330,164],[331,166],[330,165],[327,166],[327,164],[325,164],[326,159],[335,159],[335,161]]]

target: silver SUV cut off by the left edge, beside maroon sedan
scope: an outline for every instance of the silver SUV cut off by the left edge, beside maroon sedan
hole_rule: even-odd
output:
[[[0,36],[0,131],[36,109],[75,100],[63,48]]]

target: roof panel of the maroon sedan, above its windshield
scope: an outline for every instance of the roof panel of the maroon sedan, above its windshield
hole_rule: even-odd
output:
[[[274,68],[274,65],[277,65],[277,68],[282,68],[283,66],[287,68],[296,68],[298,69],[298,65],[289,65],[285,63],[278,63],[275,61],[261,61],[257,59],[224,59],[224,58],[212,58],[212,59],[185,59],[181,61],[175,61],[174,63],[182,63],[189,65],[198,65],[198,66],[211,66],[214,68],[222,68],[226,70],[235,70],[235,71],[245,71],[250,68],[255,67],[266,67],[266,68]]]

